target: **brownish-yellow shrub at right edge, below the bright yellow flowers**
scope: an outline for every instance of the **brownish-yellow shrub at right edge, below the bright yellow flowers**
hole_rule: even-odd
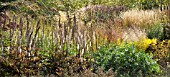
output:
[[[154,59],[158,60],[158,63],[165,67],[166,62],[169,62],[170,46],[168,40],[157,41],[156,44],[150,44],[146,49],[147,53],[153,55]]]

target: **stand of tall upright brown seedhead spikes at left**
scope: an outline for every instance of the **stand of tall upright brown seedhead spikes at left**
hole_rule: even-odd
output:
[[[78,62],[80,64],[85,62],[85,54],[95,51],[97,47],[104,42],[103,40],[98,40],[101,38],[99,38],[99,35],[96,33],[95,28],[97,28],[97,26],[93,26],[93,23],[90,26],[77,24],[78,20],[76,17],[77,16],[74,15],[72,20],[69,18],[68,22],[65,23],[61,23],[60,18],[57,23],[53,21],[51,21],[51,23],[48,21],[41,23],[41,20],[39,20],[35,26],[32,25],[35,22],[31,22],[31,19],[28,17],[25,18],[26,20],[20,18],[18,28],[16,28],[16,30],[10,29],[11,49],[9,51],[11,55],[16,55],[15,57],[19,60],[17,64],[18,67],[21,67],[21,64],[25,63],[25,67],[17,68],[20,71],[19,73],[23,72],[22,70],[24,70],[25,73],[29,73],[28,70],[30,69],[28,68],[35,67],[35,65],[31,65],[31,63],[38,64],[41,60],[41,57],[38,55],[41,51],[45,51],[45,54],[48,54],[48,51],[53,51],[54,53],[52,53],[52,55],[55,56],[61,53],[61,59],[69,57],[69,53],[74,51],[73,56],[78,59]],[[16,20],[12,22],[17,23]],[[9,24],[11,25],[12,23]],[[100,31],[101,33],[103,32],[102,30]],[[110,33],[108,33],[108,36],[109,34]],[[1,39],[4,39],[4,37]],[[14,41],[15,39],[17,41]],[[40,46],[39,43],[41,43]],[[38,51],[40,51],[40,53]],[[37,69],[34,71],[37,71]],[[84,70],[84,67],[76,69]],[[56,72],[59,74],[58,69]]]

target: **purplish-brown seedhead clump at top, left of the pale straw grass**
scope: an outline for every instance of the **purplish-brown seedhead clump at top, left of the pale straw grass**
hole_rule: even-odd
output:
[[[96,24],[113,23],[114,18],[124,11],[127,11],[125,6],[91,5],[77,10],[77,13],[80,22],[83,21],[87,25],[91,21]]]

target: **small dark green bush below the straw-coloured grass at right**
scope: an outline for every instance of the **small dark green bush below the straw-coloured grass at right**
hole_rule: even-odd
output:
[[[147,36],[149,39],[157,38],[159,40],[164,39],[163,25],[161,23],[151,26],[147,30]]]

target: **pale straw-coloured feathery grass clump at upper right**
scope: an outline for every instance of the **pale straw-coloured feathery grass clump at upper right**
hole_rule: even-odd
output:
[[[122,12],[124,26],[136,26],[146,28],[149,25],[159,22],[160,15],[156,10],[129,10]]]

